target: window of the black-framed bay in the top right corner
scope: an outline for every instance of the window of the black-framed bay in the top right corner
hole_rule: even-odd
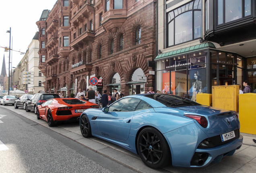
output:
[[[242,19],[252,14],[251,0],[218,0],[218,24]]]

